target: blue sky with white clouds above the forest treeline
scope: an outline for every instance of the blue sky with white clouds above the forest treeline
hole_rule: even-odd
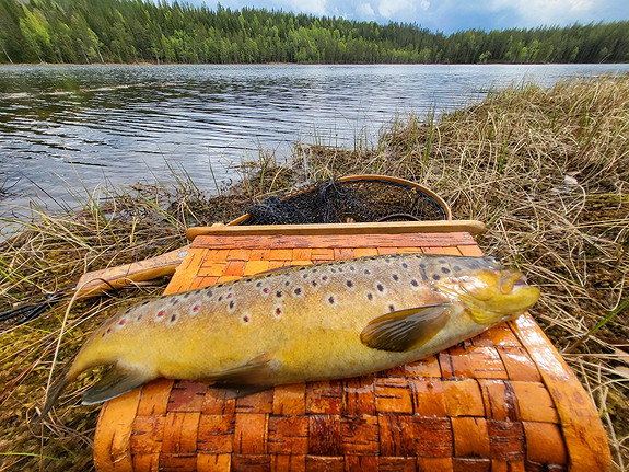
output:
[[[190,0],[199,4],[203,0]],[[216,8],[214,1],[205,1]],[[221,0],[231,9],[266,8],[377,23],[417,23],[446,34],[459,30],[566,26],[629,20],[629,0]]]

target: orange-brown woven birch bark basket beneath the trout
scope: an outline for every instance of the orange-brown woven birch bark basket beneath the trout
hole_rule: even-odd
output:
[[[376,254],[482,255],[465,227],[383,227],[210,229],[166,292]],[[94,449],[98,471],[592,472],[611,463],[592,401],[529,314],[406,366],[237,400],[205,382],[159,379],[104,405]]]

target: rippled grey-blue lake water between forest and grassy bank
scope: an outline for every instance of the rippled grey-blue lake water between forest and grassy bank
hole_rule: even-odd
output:
[[[0,66],[0,216],[72,191],[171,181],[216,192],[259,149],[375,142],[395,117],[443,113],[511,83],[629,65]],[[213,175],[212,175],[213,172]]]

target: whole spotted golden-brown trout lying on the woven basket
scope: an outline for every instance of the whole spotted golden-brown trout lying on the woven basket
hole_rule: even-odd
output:
[[[538,299],[492,257],[400,254],[291,267],[143,301],[100,326],[50,388],[112,366],[83,395],[152,379],[210,380],[242,396],[420,359],[517,316]]]

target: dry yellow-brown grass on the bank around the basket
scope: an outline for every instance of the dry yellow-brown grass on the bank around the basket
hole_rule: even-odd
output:
[[[229,221],[255,203],[306,183],[356,173],[412,180],[478,219],[488,255],[541,288],[532,314],[575,371],[605,425],[619,470],[629,465],[629,76],[517,85],[476,105],[384,129],[356,149],[295,145],[238,169],[241,182],[208,196],[186,175],[173,185],[89,194],[75,212],[12,221],[23,231],[0,244],[0,310],[73,285],[86,270],[148,258],[186,244],[187,227]],[[36,208],[36,207],[34,207]],[[63,394],[51,418],[42,407],[55,348],[58,372],[103,320],[164,283],[55,304],[19,326],[0,326],[0,464],[20,470],[86,470],[100,406]],[[68,311],[67,311],[68,310]]]

